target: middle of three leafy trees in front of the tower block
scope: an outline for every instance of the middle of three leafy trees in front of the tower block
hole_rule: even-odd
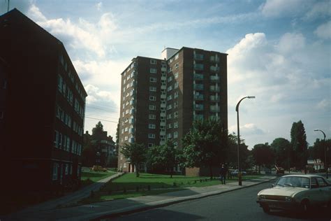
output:
[[[176,148],[174,141],[166,140],[162,145],[149,148],[149,162],[154,168],[168,169],[172,178],[173,168],[181,162],[181,151]]]

